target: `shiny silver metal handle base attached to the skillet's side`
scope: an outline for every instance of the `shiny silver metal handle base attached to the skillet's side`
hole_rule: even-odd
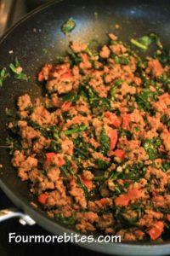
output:
[[[23,212],[20,212],[16,208],[8,208],[8,209],[3,209],[0,210],[0,223],[3,222],[4,220],[7,220],[8,218],[20,218],[20,224],[23,225],[33,225],[36,224],[36,222],[28,215],[26,215]]]

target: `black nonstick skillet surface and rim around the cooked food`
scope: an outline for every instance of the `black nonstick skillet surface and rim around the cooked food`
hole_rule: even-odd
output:
[[[77,26],[69,37],[60,26],[73,17]],[[120,29],[116,30],[116,23]],[[37,72],[45,62],[54,62],[56,55],[64,54],[71,40],[87,42],[107,40],[106,34],[115,32],[120,39],[129,42],[132,37],[156,32],[163,44],[170,46],[170,4],[167,0],[65,0],[54,1],[27,15],[0,40],[0,68],[8,67],[17,56],[21,66],[29,75],[29,81],[8,78],[0,89],[0,145],[5,145],[7,117],[5,108],[15,108],[16,98],[25,93],[41,96],[42,90],[36,82]],[[10,54],[13,50],[13,54]],[[23,212],[46,230],[54,234],[75,234],[72,227],[65,227],[49,219],[39,209],[31,207],[27,183],[21,183],[10,164],[7,149],[0,149],[0,186],[8,197]],[[80,233],[78,233],[80,234]],[[97,235],[96,235],[97,236]],[[170,240],[156,243],[79,243],[103,253],[121,255],[165,255],[170,253]]]

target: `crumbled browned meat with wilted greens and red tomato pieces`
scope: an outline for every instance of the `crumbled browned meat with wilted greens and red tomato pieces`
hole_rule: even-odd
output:
[[[71,42],[46,63],[46,95],[20,96],[8,123],[12,164],[50,218],[122,241],[170,229],[170,66],[159,38]],[[141,58],[136,49],[156,48]]]

